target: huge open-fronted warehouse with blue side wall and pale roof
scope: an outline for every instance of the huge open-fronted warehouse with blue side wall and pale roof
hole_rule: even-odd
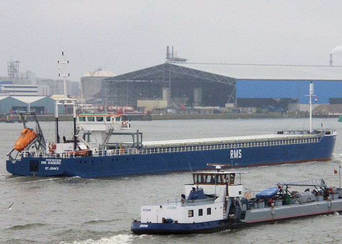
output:
[[[317,103],[342,103],[342,66],[166,62],[102,81],[102,103],[297,109],[314,82]],[[155,102],[154,102],[155,103]],[[291,106],[292,104],[292,106]],[[295,105],[293,105],[295,104]]]

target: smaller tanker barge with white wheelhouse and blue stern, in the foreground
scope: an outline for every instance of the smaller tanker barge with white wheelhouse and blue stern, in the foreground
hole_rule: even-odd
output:
[[[213,164],[210,164],[213,165]],[[342,189],[328,187],[323,179],[277,183],[261,191],[241,184],[244,172],[216,170],[192,173],[185,194],[167,203],[141,206],[134,219],[136,234],[211,233],[244,226],[342,211]],[[238,179],[240,176],[240,179]],[[291,187],[304,187],[294,191]]]

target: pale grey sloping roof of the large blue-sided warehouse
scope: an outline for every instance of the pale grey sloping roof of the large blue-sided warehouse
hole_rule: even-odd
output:
[[[342,66],[171,62],[238,80],[342,81]]]

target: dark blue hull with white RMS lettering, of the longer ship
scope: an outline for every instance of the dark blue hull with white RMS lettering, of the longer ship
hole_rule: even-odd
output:
[[[22,157],[20,160],[7,160],[6,168],[11,174],[23,176],[101,178],[187,171],[190,167],[199,170],[209,168],[207,163],[242,167],[326,161],[332,157],[335,141],[336,134],[325,135],[315,143],[62,159]]]

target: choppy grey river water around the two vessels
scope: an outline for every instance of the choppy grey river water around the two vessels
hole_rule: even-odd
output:
[[[339,186],[342,123],[337,118],[314,119],[313,128],[338,131],[333,159],[276,166],[247,167],[242,183],[261,190],[276,183],[323,178]],[[32,126],[32,125],[31,125]],[[54,122],[41,122],[45,139],[53,141]],[[60,134],[71,137],[72,122],[61,122]],[[308,119],[175,120],[132,122],[131,131],[144,141],[269,134],[282,129],[308,128]],[[33,127],[33,126],[32,126]],[[192,182],[189,172],[81,179],[12,176],[5,156],[22,130],[21,123],[0,123],[0,243],[341,243],[338,214],[262,224],[213,234],[150,236],[130,232],[140,205],[174,201]],[[112,140],[116,141],[116,140]],[[257,155],[256,155],[257,156]],[[240,169],[236,169],[240,170]],[[294,189],[295,190],[295,189]],[[12,208],[7,208],[12,204]]]

